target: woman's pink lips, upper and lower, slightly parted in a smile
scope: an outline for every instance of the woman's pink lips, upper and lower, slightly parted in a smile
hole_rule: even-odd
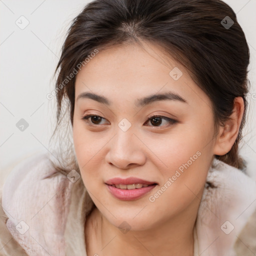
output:
[[[147,184],[148,186],[146,187],[141,187],[141,188],[134,188],[134,189],[120,189],[117,187],[112,186],[112,184],[134,184],[134,183],[142,183],[142,184]],[[147,194],[149,191],[151,191],[156,185],[156,182],[148,181],[148,180],[143,180],[140,178],[136,177],[128,177],[128,178],[111,178],[106,181],[106,186],[108,191],[117,199],[120,200],[135,200],[138,198],[141,198],[145,194]]]

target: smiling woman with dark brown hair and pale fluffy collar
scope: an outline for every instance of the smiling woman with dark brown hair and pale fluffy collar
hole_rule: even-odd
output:
[[[248,62],[220,0],[86,5],[48,95],[60,145],[8,176],[0,253],[249,255],[238,237],[256,207],[238,154]]]

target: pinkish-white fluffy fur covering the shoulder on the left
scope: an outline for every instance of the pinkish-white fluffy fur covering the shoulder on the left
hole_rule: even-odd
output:
[[[43,254],[52,243],[55,247],[48,248],[50,254],[64,248],[63,223],[72,183],[50,159],[48,153],[39,153],[19,162],[2,187],[1,224],[11,235],[10,241],[28,255]]]

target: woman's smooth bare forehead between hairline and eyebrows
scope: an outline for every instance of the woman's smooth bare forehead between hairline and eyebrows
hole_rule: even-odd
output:
[[[209,102],[185,67],[151,43],[124,44],[99,51],[78,72],[75,99],[82,92],[122,100],[171,91],[187,102]],[[134,101],[138,102],[137,100]]]

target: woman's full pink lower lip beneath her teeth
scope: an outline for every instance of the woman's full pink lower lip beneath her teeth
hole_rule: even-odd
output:
[[[135,200],[142,197],[143,195],[151,191],[155,186],[156,184],[134,189],[120,189],[112,185],[107,185],[110,193],[113,196],[115,196],[117,199],[126,201]]]

